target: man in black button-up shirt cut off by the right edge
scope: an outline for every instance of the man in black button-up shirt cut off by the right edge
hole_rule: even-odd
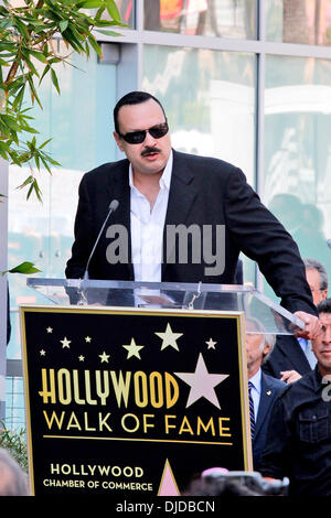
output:
[[[288,477],[290,496],[331,496],[331,299],[317,309],[317,366],[275,402],[259,466],[264,477]]]

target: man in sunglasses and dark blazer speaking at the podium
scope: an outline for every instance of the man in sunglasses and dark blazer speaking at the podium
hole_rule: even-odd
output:
[[[303,320],[302,334],[316,335],[320,326],[298,247],[243,172],[173,150],[163,107],[150,94],[122,97],[114,121],[127,158],[83,176],[66,277],[84,277],[109,203],[117,199],[90,259],[90,279],[228,284],[243,251],[258,262],[281,304]],[[183,239],[175,240],[174,230]]]

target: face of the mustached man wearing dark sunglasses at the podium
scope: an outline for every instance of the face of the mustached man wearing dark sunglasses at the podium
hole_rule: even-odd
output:
[[[122,106],[118,111],[118,127],[121,134],[147,130],[163,122],[166,122],[166,118],[162,108],[153,99],[139,105]],[[131,162],[134,173],[162,173],[171,151],[169,132],[160,139],[156,139],[147,132],[146,139],[139,144],[126,142],[116,132],[114,132],[114,137],[119,149],[126,153]]]

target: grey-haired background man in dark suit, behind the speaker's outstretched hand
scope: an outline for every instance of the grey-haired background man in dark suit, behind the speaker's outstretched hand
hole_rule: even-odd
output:
[[[306,278],[311,290],[312,301],[318,305],[328,296],[328,273],[316,259],[303,259]],[[306,343],[305,343],[306,342]],[[263,370],[275,378],[292,382],[314,368],[317,358],[307,341],[293,335],[277,336],[273,353],[263,365]]]

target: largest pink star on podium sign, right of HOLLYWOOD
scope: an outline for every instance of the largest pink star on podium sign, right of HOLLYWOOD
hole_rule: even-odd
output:
[[[190,385],[191,390],[186,402],[186,408],[197,401],[200,398],[207,399],[221,410],[214,387],[224,381],[228,374],[210,374],[206,369],[202,354],[200,353],[195,373],[174,373],[185,384]]]

